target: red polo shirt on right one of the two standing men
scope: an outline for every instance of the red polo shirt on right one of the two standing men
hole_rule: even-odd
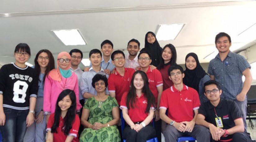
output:
[[[157,104],[157,97],[158,97],[158,86],[163,85],[162,75],[157,69],[151,69],[150,66],[146,72],[148,77],[149,89],[155,96],[155,103]]]

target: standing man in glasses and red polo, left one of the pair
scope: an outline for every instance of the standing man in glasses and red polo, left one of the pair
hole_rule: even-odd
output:
[[[115,65],[115,73],[108,78],[108,90],[111,97],[116,98],[120,105],[122,95],[129,91],[134,69],[125,68],[124,52],[116,50],[111,54],[112,63]]]

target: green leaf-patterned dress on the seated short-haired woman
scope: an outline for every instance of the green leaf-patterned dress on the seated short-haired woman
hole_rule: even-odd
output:
[[[89,110],[89,123],[108,123],[113,119],[112,108],[118,107],[115,98],[108,96],[99,107],[99,101],[94,97],[89,98],[83,108]],[[100,130],[85,128],[80,135],[80,142],[120,142],[120,134],[117,126],[103,127]]]

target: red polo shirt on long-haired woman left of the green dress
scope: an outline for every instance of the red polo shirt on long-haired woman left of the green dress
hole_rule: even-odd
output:
[[[51,114],[49,117],[46,131],[52,129],[53,123],[54,123],[54,113]],[[67,135],[64,134],[64,129],[62,130],[63,125],[64,125],[64,119],[60,117],[59,127],[56,129],[57,133],[53,133],[54,142],[64,142],[66,140]],[[80,126],[79,116],[75,115],[75,120],[73,122],[72,128],[69,131],[69,135],[74,136],[74,139],[72,140],[72,142],[79,142],[79,136],[78,136],[79,126]]]

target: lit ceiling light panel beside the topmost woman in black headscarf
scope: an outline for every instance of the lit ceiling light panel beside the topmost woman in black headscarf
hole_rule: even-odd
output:
[[[174,40],[185,24],[160,24],[156,32],[157,40]]]

